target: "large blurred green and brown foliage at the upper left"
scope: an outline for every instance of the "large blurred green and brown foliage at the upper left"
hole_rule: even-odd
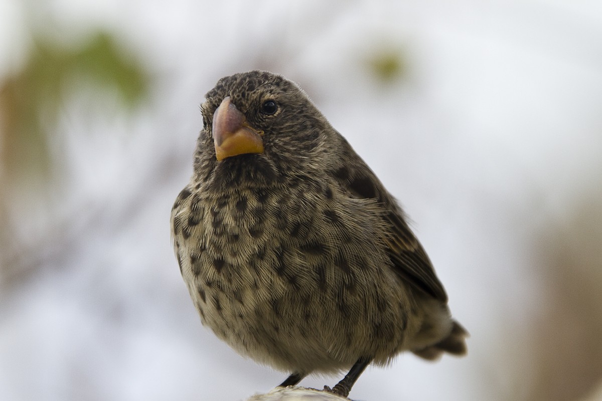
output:
[[[78,80],[116,90],[128,107],[144,99],[149,81],[143,67],[124,55],[107,32],[96,32],[74,47],[35,38],[23,69],[0,82],[0,163],[9,178],[52,170],[48,138],[66,88]]]

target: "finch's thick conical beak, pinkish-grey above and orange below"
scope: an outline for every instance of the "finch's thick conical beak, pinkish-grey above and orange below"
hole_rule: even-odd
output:
[[[263,153],[262,131],[249,125],[226,96],[213,113],[213,142],[217,161],[245,153]]]

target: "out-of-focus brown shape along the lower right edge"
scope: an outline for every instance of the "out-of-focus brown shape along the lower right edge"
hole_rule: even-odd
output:
[[[582,399],[602,380],[602,192],[577,194],[563,224],[538,236],[545,280],[542,311],[533,322],[530,400]]]

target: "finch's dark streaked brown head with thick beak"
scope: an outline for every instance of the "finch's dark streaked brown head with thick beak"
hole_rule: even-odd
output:
[[[309,173],[335,132],[298,85],[270,72],[227,76],[205,98],[196,154],[205,180]]]

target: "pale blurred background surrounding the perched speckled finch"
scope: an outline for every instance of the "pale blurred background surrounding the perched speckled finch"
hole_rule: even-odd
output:
[[[400,199],[470,331],[353,399],[602,400],[602,5],[0,2],[0,399],[241,400],[170,242],[217,79],[282,73]],[[308,378],[322,388],[340,378]]]

